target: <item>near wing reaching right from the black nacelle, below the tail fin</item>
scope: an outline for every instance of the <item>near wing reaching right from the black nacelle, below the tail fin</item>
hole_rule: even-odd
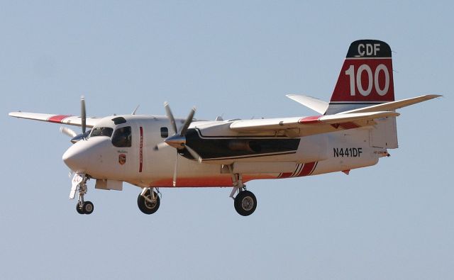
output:
[[[309,116],[304,118],[269,118],[233,121],[230,128],[238,133],[259,133],[284,130],[290,137],[301,137],[338,130],[374,125],[375,118],[397,117],[395,112],[349,113],[343,115]]]

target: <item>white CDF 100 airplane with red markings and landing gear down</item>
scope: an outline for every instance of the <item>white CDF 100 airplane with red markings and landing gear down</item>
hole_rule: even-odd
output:
[[[89,118],[81,99],[81,116],[12,112],[9,116],[75,125],[82,133],[60,128],[73,143],[63,154],[72,170],[70,198],[78,194],[76,210],[91,214],[85,201],[87,181],[95,189],[138,186],[138,208],[153,214],[160,207],[160,190],[182,187],[232,187],[238,214],[257,208],[257,198],[245,183],[344,172],[377,164],[396,149],[397,109],[441,95],[394,100],[392,52],[380,40],[350,44],[329,102],[289,94],[315,111],[314,116],[252,120],[221,117],[215,121],[175,118],[168,103],[165,116],[131,114]],[[90,130],[87,130],[90,128]]]

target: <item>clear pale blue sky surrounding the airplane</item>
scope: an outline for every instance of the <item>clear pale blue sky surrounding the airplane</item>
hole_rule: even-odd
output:
[[[1,279],[453,279],[452,1],[0,1]],[[285,94],[328,100],[348,46],[393,50],[399,149],[349,176],[231,189],[94,190],[79,215],[59,125],[10,111],[89,116],[310,116]],[[159,164],[159,162],[157,162]]]

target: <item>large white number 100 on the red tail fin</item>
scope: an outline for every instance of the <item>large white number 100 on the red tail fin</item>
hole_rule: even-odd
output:
[[[364,89],[362,85],[362,79],[361,75],[362,72],[366,72],[367,74],[367,87]],[[380,84],[378,82],[378,77],[380,75],[380,72],[384,73],[384,87],[380,89]],[[388,67],[386,65],[378,65],[377,68],[375,69],[375,73],[372,75],[372,69],[370,69],[369,65],[360,65],[358,67],[357,72],[355,73],[355,67],[353,65],[350,65],[348,67],[347,71],[345,71],[345,74],[350,76],[350,96],[355,96],[355,80],[356,80],[356,87],[358,87],[358,91],[360,91],[360,94],[362,96],[368,96],[370,92],[372,91],[372,86],[375,86],[375,90],[377,91],[377,94],[380,96],[384,96],[385,94],[388,93],[389,89],[389,71]],[[356,79],[355,79],[355,74],[356,74]]]

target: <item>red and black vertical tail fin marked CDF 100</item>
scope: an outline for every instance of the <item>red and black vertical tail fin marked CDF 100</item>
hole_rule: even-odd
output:
[[[350,44],[326,114],[394,101],[391,48],[379,40]]]

